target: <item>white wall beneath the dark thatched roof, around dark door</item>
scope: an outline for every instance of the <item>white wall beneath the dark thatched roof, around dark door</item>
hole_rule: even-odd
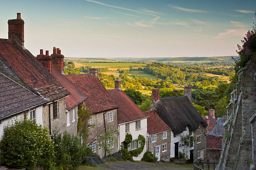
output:
[[[189,147],[189,146],[182,146],[182,143],[181,143],[181,135],[189,135],[189,128],[186,127],[187,130],[183,131],[182,133],[179,133],[179,134],[176,134],[176,137],[174,138],[173,137],[173,131],[172,131],[172,138],[171,138],[171,154],[170,154],[170,158],[174,157],[174,143],[177,143],[179,142],[179,151],[181,151],[183,153],[183,150],[184,150],[184,153],[187,154],[188,156],[188,159],[190,159],[190,152],[189,150],[193,150],[194,149],[194,145],[195,145],[195,142],[194,142],[194,145],[192,147]],[[194,132],[192,131],[192,136],[194,136]],[[195,154],[195,153],[194,153]]]

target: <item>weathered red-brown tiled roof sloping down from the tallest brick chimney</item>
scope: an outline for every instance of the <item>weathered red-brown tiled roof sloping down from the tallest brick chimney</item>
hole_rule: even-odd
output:
[[[0,39],[0,58],[33,90],[51,101],[69,95],[36,57],[15,40]]]

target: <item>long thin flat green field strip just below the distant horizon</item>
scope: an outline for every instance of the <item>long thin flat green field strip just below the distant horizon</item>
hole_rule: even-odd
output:
[[[146,66],[144,63],[126,63],[126,62],[78,62],[79,64],[94,67],[130,67],[130,66]]]

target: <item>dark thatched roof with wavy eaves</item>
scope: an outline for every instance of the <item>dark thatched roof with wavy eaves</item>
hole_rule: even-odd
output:
[[[207,126],[187,96],[160,98],[153,103],[152,109],[156,110],[174,133],[182,133],[185,126],[188,126],[189,130],[196,130],[200,123],[204,127]]]

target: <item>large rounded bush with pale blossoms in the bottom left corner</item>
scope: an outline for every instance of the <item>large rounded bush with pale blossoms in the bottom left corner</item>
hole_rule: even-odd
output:
[[[53,164],[54,144],[48,128],[26,118],[4,128],[0,148],[1,165],[9,168],[49,169]]]

